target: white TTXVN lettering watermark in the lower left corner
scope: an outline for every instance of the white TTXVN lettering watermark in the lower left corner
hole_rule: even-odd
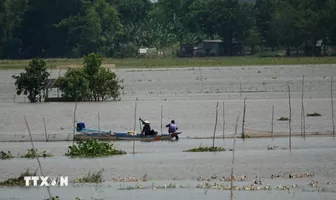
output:
[[[68,177],[67,176],[25,176],[24,180],[26,181],[26,186],[45,187],[45,186],[68,186]]]

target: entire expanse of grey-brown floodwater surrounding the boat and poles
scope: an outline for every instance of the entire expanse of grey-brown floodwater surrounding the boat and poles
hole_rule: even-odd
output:
[[[288,132],[288,122],[276,121],[288,117],[287,82],[291,88],[292,132],[300,132],[301,84],[304,82],[305,112],[318,112],[321,117],[306,117],[306,132],[331,132],[330,76],[336,75],[335,65],[306,66],[256,66],[215,68],[169,69],[118,69],[124,79],[124,95],[120,102],[78,103],[76,119],[88,128],[112,131],[134,129],[134,104],[137,117],[151,122],[152,128],[161,129],[161,105],[163,125],[175,119],[183,132],[178,142],[136,142],[136,154],[132,155],[132,142],[115,142],[117,148],[128,152],[123,156],[79,159],[64,156],[69,142],[35,142],[39,151],[55,155],[41,159],[47,175],[69,176],[70,180],[89,171],[104,169],[105,183],[98,186],[82,185],[68,188],[52,188],[52,194],[61,199],[223,199],[228,191],[198,189],[195,179],[199,176],[230,176],[232,152],[187,153],[185,149],[212,145],[212,140],[184,139],[190,136],[212,136],[215,125],[216,102],[219,102],[217,135],[223,134],[223,107],[225,102],[225,134],[233,134],[235,120],[239,116],[239,132],[242,129],[243,99],[247,98],[245,128],[271,130],[272,105],[275,106],[275,132]],[[64,140],[72,134],[74,103],[29,104],[16,96],[11,76],[20,71],[0,71],[0,150],[10,150],[13,155],[24,154],[31,148],[24,115],[35,140],[44,139],[43,117],[46,119],[50,140]],[[64,71],[61,71],[63,74]],[[53,70],[57,77],[59,71]],[[335,84],[334,84],[335,85]],[[56,93],[56,92],[55,92]],[[334,91],[335,93],[335,91]],[[98,112],[100,123],[98,125]],[[137,123],[137,130],[139,130]],[[163,128],[163,131],[166,131]],[[276,133],[275,133],[276,134]],[[6,142],[7,141],[7,142]],[[336,140],[332,137],[292,138],[292,152],[288,149],[267,150],[267,146],[288,148],[288,138],[237,139],[235,174],[248,176],[247,184],[255,176],[262,178],[272,188],[278,185],[298,184],[290,191],[268,192],[236,191],[235,199],[335,199],[336,190]],[[232,148],[232,139],[216,139],[216,146]],[[18,176],[26,168],[36,168],[36,160],[14,158],[0,160],[0,180]],[[272,174],[314,173],[303,179],[270,179]],[[144,185],[188,185],[187,189],[118,190],[133,183],[114,183],[113,177],[142,177],[149,181]],[[318,180],[318,188],[309,182]],[[215,180],[214,180],[215,181]],[[326,182],[331,181],[330,185]],[[217,180],[219,182],[219,180]],[[238,183],[235,183],[238,184]],[[134,185],[134,184],[133,184]],[[321,192],[321,188],[324,189]],[[0,188],[0,199],[42,199],[45,188]]]

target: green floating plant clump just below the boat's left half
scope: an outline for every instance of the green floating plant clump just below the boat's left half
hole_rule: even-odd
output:
[[[68,153],[65,155],[79,157],[98,157],[123,154],[126,154],[126,152],[115,149],[113,144],[90,139],[87,141],[80,141],[77,142],[77,144],[69,146]]]

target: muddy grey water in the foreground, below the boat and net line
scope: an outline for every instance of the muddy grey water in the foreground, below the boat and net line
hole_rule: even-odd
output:
[[[30,148],[29,143],[1,143],[0,150],[10,149],[14,155],[25,153]],[[187,153],[183,150],[197,147],[201,144],[211,145],[212,140],[187,140],[182,139],[178,142],[154,142],[136,143],[136,155],[132,155],[132,142],[115,143],[119,149],[126,150],[129,154],[107,158],[79,159],[68,158],[64,155],[66,148],[71,143],[67,142],[36,142],[36,148],[46,150],[55,157],[41,159],[43,171],[47,175],[68,175],[70,181],[74,178],[83,176],[88,171],[98,171],[104,169],[103,177],[106,183],[98,186],[71,186],[70,188],[52,188],[53,194],[59,195],[64,199],[71,199],[76,196],[94,197],[96,199],[114,199],[116,196],[129,198],[150,198],[156,195],[167,196],[172,193],[183,198],[211,197],[218,199],[228,196],[225,191],[195,189],[198,183],[195,179],[199,176],[229,176],[231,170],[232,152],[218,153]],[[232,148],[232,139],[216,140],[217,146]],[[236,167],[235,174],[248,176],[248,181],[236,184],[247,185],[252,183],[256,175],[261,177],[264,184],[276,188],[279,185],[298,184],[299,188],[287,191],[271,192],[236,192],[237,199],[333,199],[336,190],[336,169],[334,149],[335,140],[332,138],[293,138],[293,149],[290,153],[286,149],[266,150],[267,146],[288,147],[287,138],[277,139],[250,139],[245,142],[237,140],[236,144]],[[1,161],[0,180],[8,177],[17,176],[26,168],[37,168],[36,160],[15,158],[12,160]],[[270,179],[272,174],[288,175],[289,173],[314,173],[315,177],[302,179],[288,179],[288,176],[280,179]],[[133,183],[113,183],[114,177],[142,177],[147,174],[149,181],[139,183],[143,186],[164,184],[179,184],[188,189],[166,189],[166,190],[131,190],[120,191],[118,189],[131,186]],[[318,180],[321,188],[328,188],[324,192],[317,192],[318,188],[309,186],[311,179]],[[330,185],[326,182],[331,181]],[[219,183],[217,180],[212,182]],[[194,188],[194,189],[193,189]],[[38,191],[38,193],[37,193]],[[89,193],[90,191],[90,193]],[[197,195],[196,195],[197,194]],[[17,199],[42,199],[47,195],[45,189],[0,189],[3,198]],[[252,196],[250,196],[252,195]],[[63,199],[62,198],[62,199]],[[197,199],[196,198],[196,199]]]

